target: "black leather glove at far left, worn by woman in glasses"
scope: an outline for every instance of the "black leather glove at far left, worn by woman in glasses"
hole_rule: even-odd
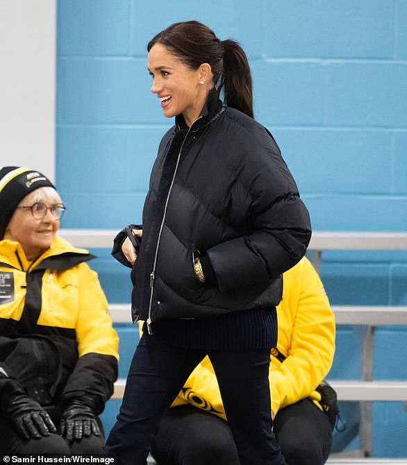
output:
[[[2,408],[24,439],[40,439],[42,436],[49,436],[51,432],[56,433],[49,414],[38,402],[24,394],[10,396]]]

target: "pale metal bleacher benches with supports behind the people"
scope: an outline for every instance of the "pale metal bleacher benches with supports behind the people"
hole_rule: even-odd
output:
[[[116,230],[61,230],[60,235],[75,246],[85,248],[110,248]],[[407,251],[407,232],[314,232],[308,246],[313,252],[313,264],[319,272],[322,253],[329,250],[404,250]],[[130,304],[111,303],[110,314],[114,322],[131,322]],[[338,400],[360,401],[360,453],[372,455],[372,402],[407,402],[407,380],[373,380],[373,342],[377,326],[407,326],[407,307],[372,306],[333,306],[338,325],[360,325],[364,328],[363,348],[361,351],[360,380],[329,380],[338,394]],[[115,383],[113,398],[122,398],[125,380]],[[330,458],[330,465],[339,464],[407,464],[407,459],[351,459]]]

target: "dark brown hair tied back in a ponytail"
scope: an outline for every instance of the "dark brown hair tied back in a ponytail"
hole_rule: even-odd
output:
[[[147,45],[162,44],[181,62],[196,70],[202,63],[212,69],[213,84],[223,89],[226,105],[253,118],[253,85],[246,53],[234,40],[219,40],[197,21],[175,23],[158,33]]]

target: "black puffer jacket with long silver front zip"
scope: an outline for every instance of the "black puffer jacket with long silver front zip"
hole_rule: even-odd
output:
[[[178,115],[160,143],[132,271],[133,320],[274,307],[281,274],[309,239],[308,210],[272,135],[213,90],[199,119],[188,128]],[[195,276],[194,251],[215,282]]]

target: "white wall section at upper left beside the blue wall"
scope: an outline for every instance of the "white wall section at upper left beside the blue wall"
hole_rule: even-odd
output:
[[[56,0],[0,0],[0,166],[55,180]]]

